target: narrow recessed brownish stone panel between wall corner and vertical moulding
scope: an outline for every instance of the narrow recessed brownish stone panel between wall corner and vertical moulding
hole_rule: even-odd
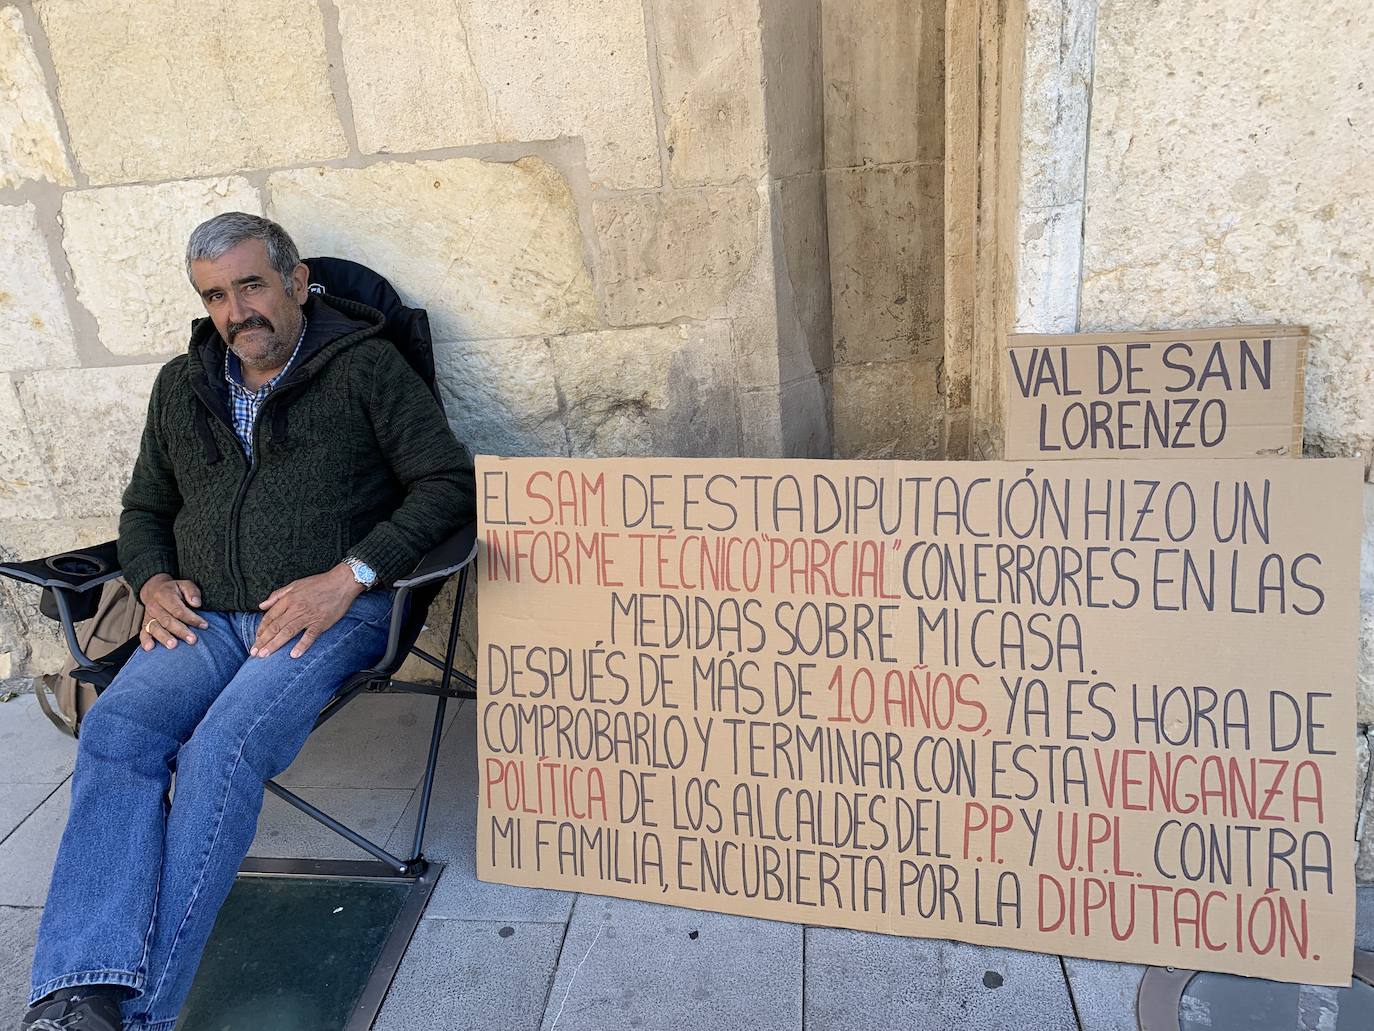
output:
[[[822,0],[835,458],[944,454],[944,0]]]

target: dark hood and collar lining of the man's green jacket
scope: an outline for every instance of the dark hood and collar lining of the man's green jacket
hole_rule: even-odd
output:
[[[272,389],[273,395],[283,395],[272,406],[271,430],[272,440],[278,444],[284,444],[287,440],[287,411],[291,400],[301,393],[291,388],[309,381],[320,368],[350,346],[378,335],[386,324],[385,316],[375,308],[344,297],[323,300],[311,294],[301,308],[305,312],[305,338],[301,341],[301,351],[291,371]],[[206,419],[206,410],[231,429],[234,428],[234,417],[229,411],[229,385],[224,379],[227,352],[228,346],[209,318],[191,323],[187,374],[191,389],[202,401],[195,429],[205,448],[206,463],[220,461],[218,445],[214,443],[214,434]]]

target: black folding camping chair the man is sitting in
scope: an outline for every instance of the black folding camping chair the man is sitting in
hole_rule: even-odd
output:
[[[306,258],[311,269],[311,291],[316,294],[345,297],[376,308],[386,318],[385,335],[405,356],[409,366],[429,385],[436,404],[444,407],[434,379],[434,351],[430,341],[429,318],[423,309],[407,308],[392,285],[372,269],[344,258]],[[467,590],[469,572],[477,555],[477,525],[470,524],[425,555],[415,569],[403,580],[396,581],[396,601],[392,606],[390,632],[386,639],[386,653],[368,669],[360,669],[349,676],[328,705],[320,712],[315,727],[319,729],[363,693],[412,693],[436,698],[434,727],[430,733],[429,759],[425,764],[425,779],[420,786],[419,815],[415,823],[415,839],[408,858],[387,852],[382,845],[370,841],[334,819],[298,795],[275,781],[267,782],[267,789],[286,800],[312,819],[319,821],[359,848],[376,856],[394,874],[407,878],[422,877],[426,870],[423,854],[425,823],[429,818],[430,795],[434,788],[434,770],[438,764],[440,738],[444,731],[444,715],[449,698],[474,698],[473,678],[453,668],[453,650],[458,645],[459,621],[463,612],[463,597]],[[115,542],[110,540],[89,548],[65,551],[26,562],[0,564],[0,575],[43,588],[40,610],[49,619],[59,620],[66,635],[67,649],[77,661],[73,676],[102,691],[110,686],[115,674],[139,646],[137,636],[99,658],[91,658],[77,642],[76,624],[89,619],[96,612],[100,588],[109,580],[120,576],[120,559]],[[458,594],[453,613],[449,619],[448,643],[444,657],[430,654],[419,647],[425,616],[440,590],[453,575],[458,575]],[[405,602],[409,601],[407,612]],[[407,654],[441,671],[438,686],[412,683],[396,679]],[[455,683],[456,682],[456,683]]]

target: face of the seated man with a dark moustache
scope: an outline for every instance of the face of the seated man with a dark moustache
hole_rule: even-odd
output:
[[[246,239],[217,258],[191,263],[191,279],[220,338],[246,367],[280,368],[301,335],[301,302],[309,269],[297,265],[291,290],[267,257],[267,245]]]

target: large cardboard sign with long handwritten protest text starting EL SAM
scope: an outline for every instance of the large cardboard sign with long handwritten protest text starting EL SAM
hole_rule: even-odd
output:
[[[478,876],[1348,984],[1356,461],[478,461]]]

